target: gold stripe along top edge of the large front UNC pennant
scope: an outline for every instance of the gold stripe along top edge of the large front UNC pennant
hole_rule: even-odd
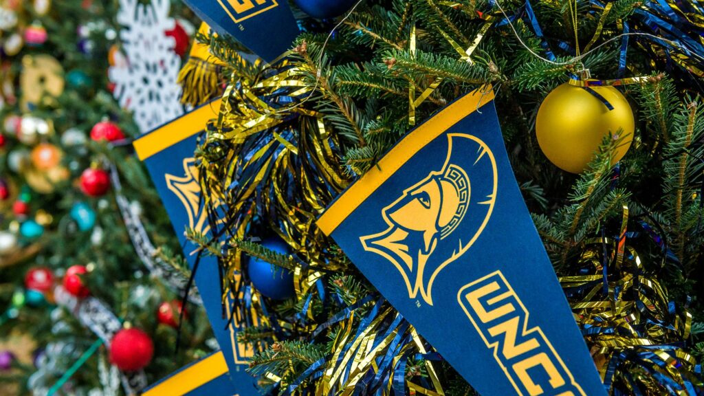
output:
[[[391,149],[377,166],[372,167],[360,180],[348,187],[320,216],[317,222],[320,230],[326,235],[332,234],[347,216],[357,209],[372,192],[384,184],[391,175],[396,173],[410,157],[445,132],[451,125],[458,123],[492,100],[494,100],[494,90],[491,89],[491,86],[474,89],[415,128],[401,142],[398,142],[396,147]]]

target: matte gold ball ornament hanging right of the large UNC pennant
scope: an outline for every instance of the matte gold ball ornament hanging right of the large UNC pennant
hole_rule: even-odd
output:
[[[538,110],[535,130],[543,154],[558,168],[584,171],[594,158],[604,136],[624,134],[613,163],[620,161],[633,141],[635,120],[627,99],[614,87],[591,87],[606,99],[601,100],[586,89],[562,84],[550,92]]]

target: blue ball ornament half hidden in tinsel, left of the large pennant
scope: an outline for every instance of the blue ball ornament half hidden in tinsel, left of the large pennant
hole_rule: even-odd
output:
[[[280,254],[290,254],[289,245],[279,238],[267,238],[261,242],[263,247]],[[247,274],[258,292],[270,299],[288,299],[294,297],[294,274],[291,271],[270,264],[266,261],[249,257]]]

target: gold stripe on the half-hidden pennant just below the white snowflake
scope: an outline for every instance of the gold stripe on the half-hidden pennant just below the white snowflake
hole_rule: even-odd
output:
[[[217,99],[203,104],[198,109],[184,114],[180,118],[176,118],[161,128],[135,140],[132,145],[134,146],[134,151],[137,151],[137,157],[144,161],[159,151],[204,130],[208,120],[218,118],[221,100]]]

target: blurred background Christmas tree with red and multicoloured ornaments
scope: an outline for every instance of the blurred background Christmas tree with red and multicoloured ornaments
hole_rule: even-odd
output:
[[[170,3],[160,6],[168,14]],[[0,379],[13,384],[4,394],[130,394],[217,347],[199,304],[178,330],[189,270],[131,151],[146,132],[133,113],[143,115],[111,93],[108,67],[140,64],[125,58],[134,43],[120,33],[136,9],[2,2]],[[171,22],[161,42],[175,80],[189,22]],[[13,37],[24,46],[12,49]],[[189,299],[198,301],[195,290]]]

